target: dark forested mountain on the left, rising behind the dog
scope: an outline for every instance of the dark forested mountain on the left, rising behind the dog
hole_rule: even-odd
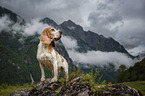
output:
[[[31,76],[35,82],[40,81],[40,67],[36,59],[37,45],[40,34],[23,35],[24,30],[15,31],[14,25],[25,26],[25,20],[12,11],[0,7],[0,18],[8,16],[11,24],[9,28],[0,31],[0,76],[2,83],[24,84],[31,83]],[[1,27],[0,27],[1,28]],[[56,43],[56,50],[69,62],[69,72],[72,72],[73,62],[61,41]],[[52,71],[45,69],[46,78],[52,77]]]

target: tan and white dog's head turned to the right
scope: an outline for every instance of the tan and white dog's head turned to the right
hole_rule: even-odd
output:
[[[40,36],[41,42],[45,44],[51,44],[55,47],[54,41],[57,41],[61,38],[61,31],[56,30],[53,27],[45,28]]]

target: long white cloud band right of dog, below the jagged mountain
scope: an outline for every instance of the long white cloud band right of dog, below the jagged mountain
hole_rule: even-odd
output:
[[[131,58],[119,52],[88,51],[87,53],[79,53],[75,50],[79,48],[77,40],[68,36],[63,36],[62,42],[69,56],[76,63],[94,64],[100,67],[114,64],[116,69],[118,69],[120,65],[129,67],[134,64]]]

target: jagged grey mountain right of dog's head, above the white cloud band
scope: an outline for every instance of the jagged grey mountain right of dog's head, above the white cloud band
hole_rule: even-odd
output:
[[[125,48],[120,45],[113,38],[106,38],[103,35],[98,35],[95,32],[84,31],[80,25],[76,25],[71,20],[65,21],[60,24],[61,28],[64,29],[63,33],[67,36],[72,36],[77,40],[79,51],[106,51],[106,52],[121,52],[131,56]]]

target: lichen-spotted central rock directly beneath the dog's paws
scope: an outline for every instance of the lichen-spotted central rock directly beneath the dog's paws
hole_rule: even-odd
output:
[[[49,79],[38,82],[36,86],[31,89],[30,96],[90,96],[92,93],[91,86],[89,84],[84,85],[83,78],[77,77],[62,85],[61,82],[51,82]]]

